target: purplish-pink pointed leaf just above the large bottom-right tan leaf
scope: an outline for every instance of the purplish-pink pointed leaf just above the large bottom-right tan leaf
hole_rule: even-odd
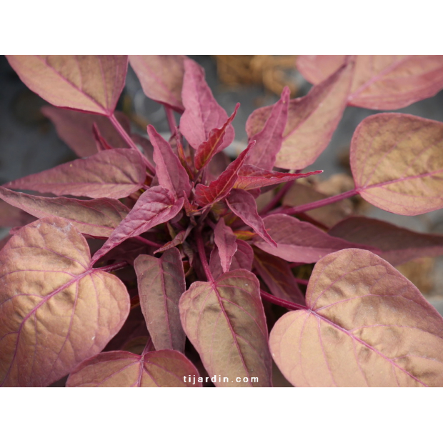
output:
[[[374,247],[331,237],[322,229],[289,215],[269,215],[263,221],[268,234],[277,243],[277,248],[259,238],[254,239],[254,244],[264,252],[287,262],[315,263],[327,254],[347,248],[371,249],[376,253],[380,252]]]

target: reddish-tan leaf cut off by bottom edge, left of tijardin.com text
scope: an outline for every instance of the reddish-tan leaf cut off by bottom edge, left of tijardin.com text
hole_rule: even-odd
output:
[[[194,364],[177,351],[111,351],[79,364],[66,387],[201,387],[198,377]]]

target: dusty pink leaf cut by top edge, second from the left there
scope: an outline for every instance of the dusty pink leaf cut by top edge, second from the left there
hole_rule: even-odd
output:
[[[183,85],[186,56],[129,56],[129,63],[139,77],[143,92],[149,99],[183,112],[181,86]]]

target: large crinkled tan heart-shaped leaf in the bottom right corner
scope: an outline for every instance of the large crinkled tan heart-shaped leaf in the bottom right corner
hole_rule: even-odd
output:
[[[277,321],[269,341],[294,386],[443,386],[443,319],[380,257],[362,249],[324,257],[306,302]]]

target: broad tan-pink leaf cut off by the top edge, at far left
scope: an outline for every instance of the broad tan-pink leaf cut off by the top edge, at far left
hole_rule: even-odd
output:
[[[123,90],[128,56],[6,56],[21,81],[49,103],[110,116]]]

